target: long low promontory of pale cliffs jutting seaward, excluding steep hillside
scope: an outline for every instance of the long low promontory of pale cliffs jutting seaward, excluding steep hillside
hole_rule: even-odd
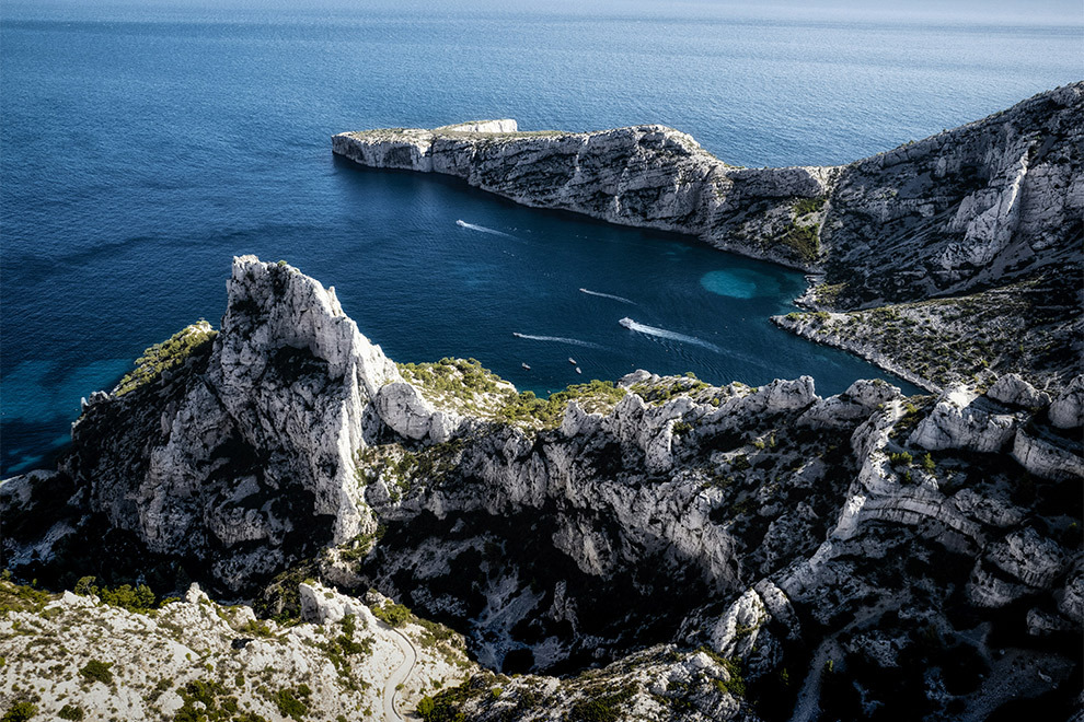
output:
[[[829,193],[837,168],[735,168],[657,125],[523,133],[498,123],[341,133],[332,150],[371,167],[453,175],[526,206],[689,233],[791,266],[815,260],[773,236],[791,228],[797,200]]]

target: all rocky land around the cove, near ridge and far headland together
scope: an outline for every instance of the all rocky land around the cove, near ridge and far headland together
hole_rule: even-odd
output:
[[[234,258],[219,329],[149,349],[56,471],[0,484],[0,711],[1079,715],[1082,96],[837,168],[734,168],[660,126],[336,136],[817,270],[774,323],[934,393],[642,370],[541,399],[395,363],[333,288]]]

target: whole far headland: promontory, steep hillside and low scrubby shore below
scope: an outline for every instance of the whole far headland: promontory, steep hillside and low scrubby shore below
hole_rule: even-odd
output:
[[[365,166],[452,175],[804,269],[811,313],[780,326],[934,392],[1006,373],[1056,391],[1080,372],[1082,148],[1084,83],[833,167],[735,167],[664,126],[494,120],[332,138]]]

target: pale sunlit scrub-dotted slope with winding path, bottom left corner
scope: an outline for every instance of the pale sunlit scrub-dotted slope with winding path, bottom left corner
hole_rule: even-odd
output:
[[[0,619],[0,709],[24,702],[34,719],[90,721],[372,717],[403,662],[400,632],[358,599],[310,591],[333,595],[320,606],[327,614],[281,626],[257,621],[246,606],[220,606],[198,586],[161,609],[132,612],[0,581],[9,609]],[[350,619],[337,614],[342,606]],[[454,634],[424,644],[430,632],[413,621],[401,632],[417,654],[402,709],[433,684],[454,686],[478,672]]]

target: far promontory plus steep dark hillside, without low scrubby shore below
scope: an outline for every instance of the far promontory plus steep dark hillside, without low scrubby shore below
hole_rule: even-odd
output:
[[[736,168],[662,126],[480,128],[347,132],[332,150],[372,167],[453,175],[527,206],[823,268],[832,293],[821,302],[842,308],[1080,268],[1084,83],[842,167]]]

